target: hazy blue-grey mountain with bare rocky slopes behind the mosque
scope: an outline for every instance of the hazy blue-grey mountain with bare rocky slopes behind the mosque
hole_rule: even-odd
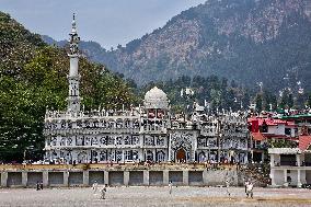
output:
[[[208,0],[95,59],[138,83],[217,74],[275,91],[300,80],[310,90],[310,13],[309,0]]]

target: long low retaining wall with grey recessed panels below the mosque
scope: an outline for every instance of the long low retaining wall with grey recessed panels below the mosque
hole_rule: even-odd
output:
[[[238,185],[237,170],[32,170],[2,171],[1,187],[34,187],[37,181],[45,187],[92,186],[96,181],[100,185],[173,185],[217,186],[224,185],[230,179],[232,185]]]

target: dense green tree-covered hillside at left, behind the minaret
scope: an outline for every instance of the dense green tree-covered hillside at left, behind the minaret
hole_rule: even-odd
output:
[[[68,31],[70,21],[68,22]],[[134,95],[120,77],[80,58],[85,110],[129,106]],[[0,12],[0,162],[42,158],[46,108],[66,110],[69,58]]]

